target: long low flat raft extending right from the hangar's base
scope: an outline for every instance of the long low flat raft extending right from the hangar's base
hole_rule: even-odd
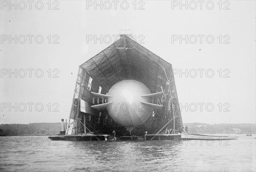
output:
[[[236,140],[236,136],[182,133],[182,140]]]

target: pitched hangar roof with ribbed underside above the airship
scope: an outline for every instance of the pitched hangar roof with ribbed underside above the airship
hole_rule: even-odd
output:
[[[166,77],[171,80],[172,76],[170,63],[128,35],[121,35],[120,39],[80,67],[86,69],[107,90],[123,79],[134,79],[143,82],[151,93],[156,93],[161,91],[161,85],[166,85]]]

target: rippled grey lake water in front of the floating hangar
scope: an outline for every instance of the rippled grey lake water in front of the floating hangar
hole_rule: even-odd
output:
[[[237,140],[214,143],[72,142],[50,141],[47,136],[1,137],[0,171],[255,172],[255,135],[238,136]]]

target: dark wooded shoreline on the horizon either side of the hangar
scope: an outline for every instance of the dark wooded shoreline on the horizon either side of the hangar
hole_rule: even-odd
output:
[[[241,134],[255,134],[255,124],[204,124],[184,123],[189,127],[189,133],[235,133],[232,128],[239,128]],[[0,136],[11,135],[56,135],[61,130],[61,123],[29,123],[29,124],[0,124]]]

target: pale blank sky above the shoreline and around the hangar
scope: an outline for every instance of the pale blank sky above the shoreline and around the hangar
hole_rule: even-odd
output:
[[[128,1],[126,10],[126,2],[118,1],[116,9],[108,2],[102,1],[100,9],[94,1],[52,1],[51,6],[42,1],[39,10],[38,1],[31,9],[29,3],[25,8],[17,1],[15,9],[1,1],[1,124],[68,118],[79,65],[111,45],[112,35],[121,29],[131,29],[137,41],[171,63],[175,72],[187,69],[187,77],[175,74],[183,122],[255,123],[256,1],[188,1],[187,10],[180,1]],[[89,35],[106,39],[95,43],[87,41]],[[187,35],[188,42],[180,43],[180,35]]]

